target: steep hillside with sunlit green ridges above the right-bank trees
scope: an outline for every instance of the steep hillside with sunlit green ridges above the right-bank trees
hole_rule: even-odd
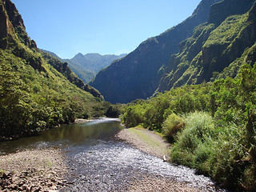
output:
[[[254,9],[246,13],[253,4],[254,0],[214,4],[209,21],[198,26],[179,44],[179,53],[171,56],[156,92],[215,78],[234,78],[245,59],[254,63],[249,57],[256,42]]]

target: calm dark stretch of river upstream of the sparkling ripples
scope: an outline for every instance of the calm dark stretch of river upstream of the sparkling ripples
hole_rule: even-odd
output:
[[[95,123],[100,121],[100,123]],[[110,119],[100,119],[95,122],[85,122],[75,125],[61,126],[52,130],[47,130],[42,134],[30,138],[20,138],[16,141],[1,142],[0,154],[13,153],[17,150],[79,146],[86,144],[95,145],[97,139],[108,140],[121,130],[118,121]]]

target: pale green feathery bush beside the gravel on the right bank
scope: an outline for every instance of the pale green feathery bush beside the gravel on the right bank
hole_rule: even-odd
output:
[[[174,162],[200,168],[210,156],[209,147],[214,136],[214,121],[210,114],[194,112],[186,118],[186,126],[178,133],[177,141],[171,150]]]

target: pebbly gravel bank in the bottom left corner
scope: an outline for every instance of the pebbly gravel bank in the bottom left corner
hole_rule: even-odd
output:
[[[0,156],[1,191],[56,191],[68,183],[61,150],[25,150]]]

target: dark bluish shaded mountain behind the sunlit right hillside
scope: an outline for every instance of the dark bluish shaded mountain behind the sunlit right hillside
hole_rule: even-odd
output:
[[[91,86],[98,89],[106,101],[130,102],[149,98],[158,88],[170,55],[178,53],[178,43],[190,38],[194,27],[207,22],[210,6],[220,0],[202,0],[194,13],[178,26],[142,42],[125,58],[101,70]]]

